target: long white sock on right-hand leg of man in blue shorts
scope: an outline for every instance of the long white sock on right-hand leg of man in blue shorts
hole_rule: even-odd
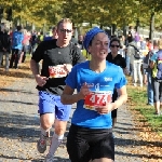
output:
[[[59,136],[55,133],[53,134],[50,150],[49,150],[50,156],[54,156],[54,153],[57,150],[58,146],[60,145],[63,138],[64,138],[64,134],[59,135]]]

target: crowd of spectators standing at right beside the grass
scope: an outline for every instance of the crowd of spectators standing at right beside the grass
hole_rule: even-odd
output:
[[[126,62],[127,75],[134,86],[147,85],[147,105],[154,107],[154,114],[162,114],[162,38],[143,38],[130,27],[126,38],[119,37],[121,46],[118,53]]]

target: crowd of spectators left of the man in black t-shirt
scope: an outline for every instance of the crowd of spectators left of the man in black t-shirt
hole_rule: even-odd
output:
[[[45,40],[56,39],[57,33],[55,27],[52,28],[50,35],[43,32],[28,31],[22,26],[17,26],[13,31],[4,25],[0,27],[0,67],[4,65],[4,70],[10,68],[17,69],[25,62],[27,53],[33,54],[37,46]],[[3,57],[4,60],[3,62]]]

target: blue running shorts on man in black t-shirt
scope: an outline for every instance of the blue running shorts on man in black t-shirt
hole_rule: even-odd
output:
[[[55,113],[55,118],[62,121],[68,121],[71,105],[63,105],[60,96],[39,91],[39,113]]]

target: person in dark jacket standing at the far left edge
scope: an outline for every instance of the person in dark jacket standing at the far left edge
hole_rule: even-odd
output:
[[[5,71],[9,71],[9,55],[11,52],[11,38],[8,29],[2,29],[0,32],[0,63],[3,60],[5,55]],[[1,65],[0,65],[1,66]]]

